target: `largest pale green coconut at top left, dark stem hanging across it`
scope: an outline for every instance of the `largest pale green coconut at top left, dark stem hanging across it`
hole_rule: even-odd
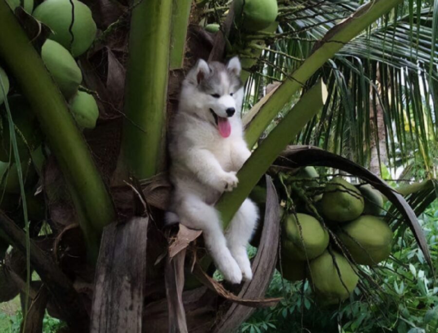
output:
[[[73,0],[74,22],[72,35],[69,27],[72,22],[72,5],[70,0],[46,0],[35,8],[33,16],[46,24],[52,34],[49,36],[78,57],[89,49],[96,37],[96,23],[91,10],[84,3]]]

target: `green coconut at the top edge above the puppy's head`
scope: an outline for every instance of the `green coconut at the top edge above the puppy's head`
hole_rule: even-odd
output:
[[[266,29],[278,15],[276,0],[237,0],[234,10],[238,24],[249,31]]]

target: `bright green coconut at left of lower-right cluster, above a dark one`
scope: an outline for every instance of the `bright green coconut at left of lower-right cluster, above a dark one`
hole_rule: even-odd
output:
[[[329,233],[313,216],[301,213],[296,216],[301,225],[301,234],[295,216],[289,215],[283,223],[283,253],[292,260],[301,261],[321,255],[329,245]]]

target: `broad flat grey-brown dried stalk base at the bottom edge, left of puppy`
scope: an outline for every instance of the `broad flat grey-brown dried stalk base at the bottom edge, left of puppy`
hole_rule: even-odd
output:
[[[142,332],[148,218],[104,229],[94,277],[91,333]]]

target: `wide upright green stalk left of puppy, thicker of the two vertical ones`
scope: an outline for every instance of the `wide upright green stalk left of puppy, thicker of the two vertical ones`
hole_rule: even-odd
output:
[[[132,10],[120,168],[139,179],[163,163],[172,2],[135,1]]]

